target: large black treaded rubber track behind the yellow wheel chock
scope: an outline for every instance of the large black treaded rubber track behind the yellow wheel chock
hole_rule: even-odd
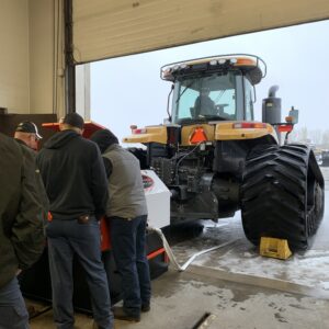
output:
[[[258,146],[246,159],[242,225],[254,245],[261,237],[287,239],[305,250],[324,216],[324,177],[304,145]]]

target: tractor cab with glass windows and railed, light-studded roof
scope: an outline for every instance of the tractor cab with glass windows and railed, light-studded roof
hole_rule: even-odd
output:
[[[173,82],[173,124],[253,121],[254,84],[265,76],[256,56],[228,55],[170,64],[161,78]]]

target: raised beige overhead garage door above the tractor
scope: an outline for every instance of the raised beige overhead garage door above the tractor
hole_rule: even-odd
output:
[[[73,0],[72,3],[77,63],[329,18],[328,0]]]

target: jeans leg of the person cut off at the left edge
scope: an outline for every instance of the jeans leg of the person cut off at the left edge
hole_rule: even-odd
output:
[[[27,329],[29,314],[18,279],[0,290],[0,329]]]

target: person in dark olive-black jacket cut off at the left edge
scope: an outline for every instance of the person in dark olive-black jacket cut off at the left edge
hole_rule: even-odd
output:
[[[42,204],[34,159],[0,134],[0,328],[29,328],[16,275],[31,266],[45,246]]]

